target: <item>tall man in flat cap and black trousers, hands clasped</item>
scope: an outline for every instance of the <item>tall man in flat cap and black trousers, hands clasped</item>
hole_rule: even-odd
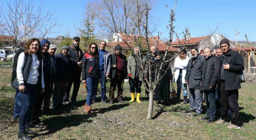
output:
[[[64,104],[69,103],[69,94],[71,90],[71,86],[74,83],[71,102],[76,102],[76,96],[78,94],[78,90],[80,87],[80,77],[82,71],[82,58],[83,52],[79,48],[80,38],[74,37],[73,43],[69,47],[68,54],[70,55],[70,75],[68,76],[68,84],[66,86],[66,93],[63,98]]]

